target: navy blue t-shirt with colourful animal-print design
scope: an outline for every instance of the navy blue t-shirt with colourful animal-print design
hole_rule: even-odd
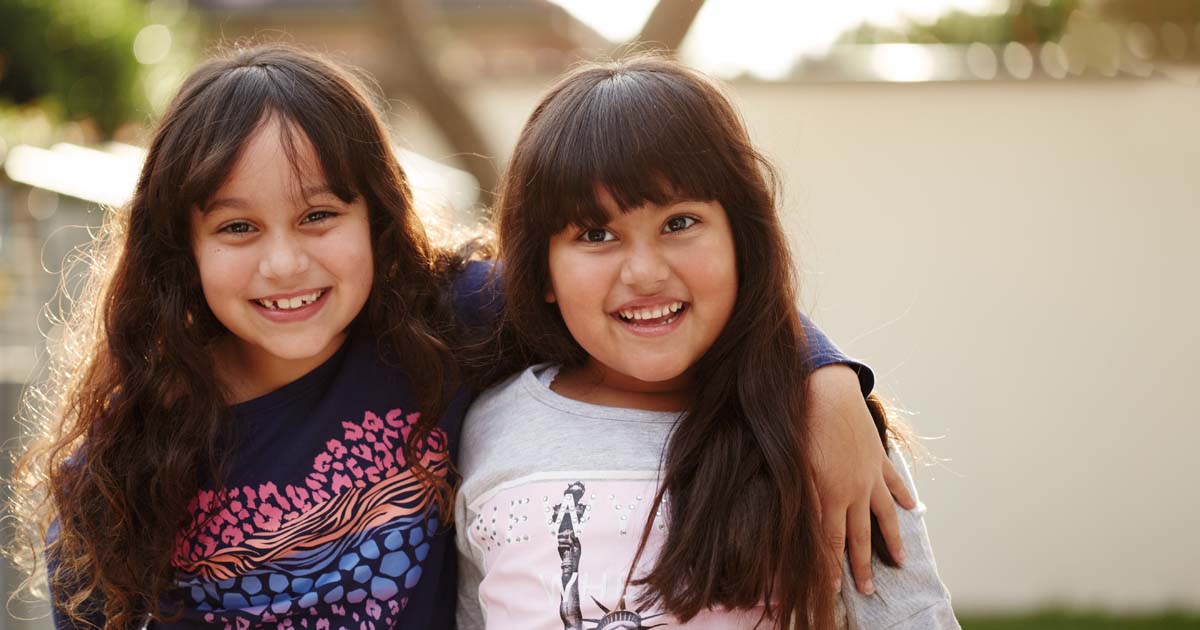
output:
[[[455,282],[468,323],[498,312],[488,269],[472,264]],[[869,392],[870,370],[805,326],[814,368],[856,366]],[[403,454],[421,413],[414,383],[364,329],[312,372],[232,408],[226,496],[202,490],[191,502],[173,558],[182,617],[151,626],[454,628],[454,533]],[[458,390],[418,445],[437,475],[450,474],[469,402]],[[72,626],[58,608],[54,618]]]

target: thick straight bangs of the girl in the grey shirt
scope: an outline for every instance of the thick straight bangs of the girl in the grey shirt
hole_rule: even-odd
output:
[[[526,191],[540,215],[530,218],[557,233],[607,223],[608,199],[629,212],[647,203],[736,197],[738,166],[722,151],[725,139],[703,131],[722,125],[696,106],[691,89],[677,77],[624,72],[564,92],[532,130],[541,136],[532,144],[545,150],[534,156]]]

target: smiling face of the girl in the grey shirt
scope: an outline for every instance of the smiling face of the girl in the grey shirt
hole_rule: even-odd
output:
[[[737,299],[737,259],[718,202],[646,204],[612,220],[569,227],[550,240],[551,289],[575,341],[605,382],[668,391],[713,346]]]

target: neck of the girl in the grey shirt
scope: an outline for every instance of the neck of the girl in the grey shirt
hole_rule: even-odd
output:
[[[691,400],[691,374],[670,380],[638,380],[589,359],[559,371],[550,389],[571,400],[605,407],[682,412]]]

